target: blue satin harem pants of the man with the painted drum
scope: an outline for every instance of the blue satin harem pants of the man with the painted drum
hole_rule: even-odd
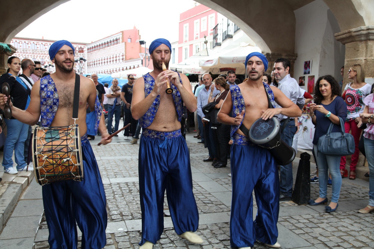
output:
[[[83,181],[53,182],[42,186],[50,249],[76,249],[77,227],[82,249],[99,249],[107,243],[104,186],[87,134],[81,139]]]

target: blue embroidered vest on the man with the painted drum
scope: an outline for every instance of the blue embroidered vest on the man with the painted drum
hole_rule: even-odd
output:
[[[40,117],[43,127],[49,127],[52,123],[53,118],[56,115],[58,102],[58,93],[55,82],[53,82],[52,78],[47,75],[40,79]],[[87,115],[91,114],[92,117],[93,112],[95,112],[96,118],[90,119],[90,122],[94,123],[92,125],[87,123],[87,129],[95,129],[95,131],[97,131],[102,113],[98,96],[96,96],[95,100],[95,110]]]

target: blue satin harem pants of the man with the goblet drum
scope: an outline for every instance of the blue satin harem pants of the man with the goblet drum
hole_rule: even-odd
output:
[[[238,143],[237,137],[242,139]],[[231,146],[232,206],[231,247],[253,247],[256,240],[274,245],[278,238],[279,174],[269,150],[249,144],[245,136],[234,134]],[[252,192],[257,216],[253,221]]]

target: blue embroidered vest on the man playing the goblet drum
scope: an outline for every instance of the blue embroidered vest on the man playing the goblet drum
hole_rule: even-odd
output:
[[[274,93],[273,93],[272,89],[270,88],[270,86],[268,84],[266,84],[266,83],[263,83],[263,84],[265,86],[267,96],[269,96],[270,102],[272,103],[273,108],[275,108]],[[232,117],[236,117],[237,113],[241,113],[242,110],[245,111],[244,98],[243,98],[242,92],[240,91],[239,86],[237,86],[237,85],[234,85],[234,86],[230,87],[230,93],[231,93],[231,100],[233,102]],[[244,116],[243,116],[243,120],[244,120],[244,117],[245,117],[245,113],[244,113]],[[233,136],[234,133],[236,132],[236,130],[239,129],[239,127],[243,123],[243,120],[239,125],[232,125],[231,126],[231,132],[230,132],[231,136]]]

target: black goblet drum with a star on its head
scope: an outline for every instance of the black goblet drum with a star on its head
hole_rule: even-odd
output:
[[[296,151],[281,139],[281,124],[276,117],[256,120],[249,129],[249,140],[270,150],[278,165],[288,165],[296,156]]]

